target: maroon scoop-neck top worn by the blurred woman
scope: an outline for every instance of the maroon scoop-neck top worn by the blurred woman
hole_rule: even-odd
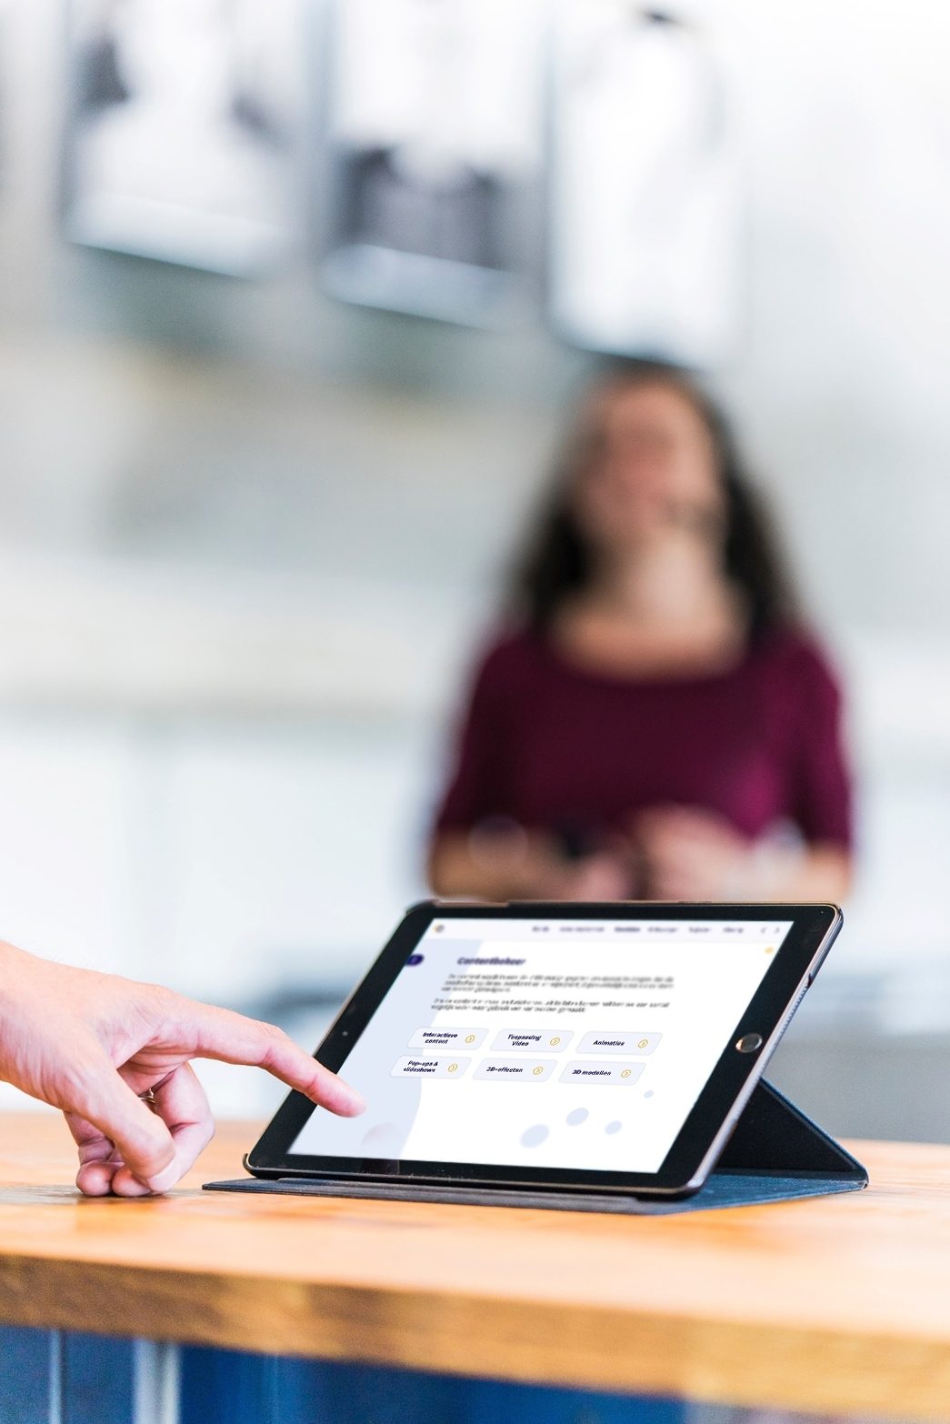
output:
[[[840,692],[805,634],[773,631],[726,672],[588,672],[520,632],[481,662],[437,830],[491,817],[593,846],[661,805],[721,812],[761,836],[793,822],[850,846]]]

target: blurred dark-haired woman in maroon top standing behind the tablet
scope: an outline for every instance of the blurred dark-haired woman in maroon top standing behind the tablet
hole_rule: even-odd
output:
[[[583,406],[437,815],[437,894],[829,900],[850,874],[840,693],[708,397]]]

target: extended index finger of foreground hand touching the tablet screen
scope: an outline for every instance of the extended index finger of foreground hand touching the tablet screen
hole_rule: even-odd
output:
[[[329,1108],[342,1118],[355,1118],[366,1108],[355,1088],[318,1064],[275,1024],[262,1024],[256,1018],[245,1018],[244,1014],[209,1004],[188,1004],[184,1018],[175,1027],[197,1058],[263,1068],[288,1088],[295,1088],[310,1102]]]

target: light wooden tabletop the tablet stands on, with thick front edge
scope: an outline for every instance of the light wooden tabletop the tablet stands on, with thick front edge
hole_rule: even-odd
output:
[[[863,1193],[669,1218],[202,1193],[83,1200],[3,1119],[0,1323],[496,1380],[950,1415],[950,1148],[853,1143]]]

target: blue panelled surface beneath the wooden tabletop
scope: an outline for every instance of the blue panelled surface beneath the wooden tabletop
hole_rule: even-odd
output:
[[[0,1327],[0,1424],[681,1424],[684,1408],[417,1370]]]

